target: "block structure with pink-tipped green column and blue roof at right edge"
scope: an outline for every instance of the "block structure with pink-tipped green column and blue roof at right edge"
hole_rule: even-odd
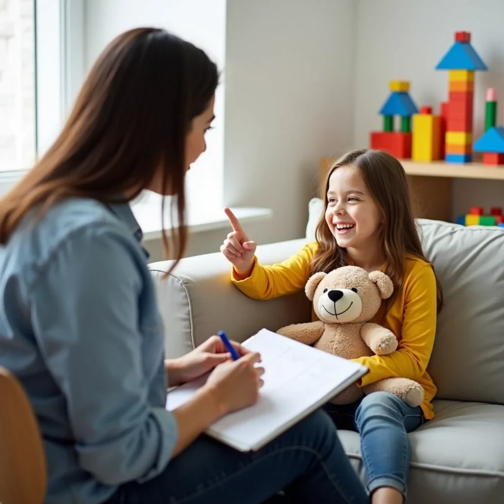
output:
[[[504,127],[495,127],[497,122],[497,91],[486,90],[485,133],[473,146],[476,152],[483,153],[483,164],[496,166],[504,164]]]

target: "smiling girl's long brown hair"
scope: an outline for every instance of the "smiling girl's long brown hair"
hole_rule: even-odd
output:
[[[367,188],[382,211],[383,225],[379,230],[382,255],[386,259],[385,273],[394,283],[394,294],[386,302],[387,312],[403,287],[405,254],[411,254],[429,262],[423,254],[413,218],[406,173],[401,163],[390,154],[367,149],[354,150],[333,164],[325,180],[324,213],[317,225],[318,251],[310,262],[310,272],[328,273],[348,264],[346,249],[338,246],[325,219],[329,179],[334,170],[348,164],[360,171]],[[436,287],[437,311],[439,312],[443,306],[443,290],[437,277]]]

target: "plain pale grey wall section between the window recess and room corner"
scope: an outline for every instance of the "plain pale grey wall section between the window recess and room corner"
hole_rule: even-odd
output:
[[[303,235],[319,158],[351,147],[355,14],[352,0],[228,1],[224,201],[273,208],[259,242]]]

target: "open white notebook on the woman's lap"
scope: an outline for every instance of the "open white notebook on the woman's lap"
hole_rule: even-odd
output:
[[[242,343],[261,353],[258,401],[214,422],[206,433],[241,452],[257,451],[368,372],[368,368],[262,329]],[[208,375],[172,389],[169,411],[191,399]]]

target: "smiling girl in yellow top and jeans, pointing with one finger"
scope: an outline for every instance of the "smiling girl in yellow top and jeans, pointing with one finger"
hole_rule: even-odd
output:
[[[425,392],[420,407],[411,408],[392,394],[375,392],[342,407],[326,405],[335,424],[355,429],[373,504],[402,502],[410,446],[406,432],[433,417],[435,386],[426,372],[442,305],[442,292],[432,265],[422,253],[411,212],[403,167],[380,151],[356,150],[330,169],[325,186],[325,212],[317,242],[274,266],[261,266],[250,241],[226,209],[233,231],[221,246],[233,265],[232,281],[246,295],[269,299],[304,288],[309,276],[352,264],[382,270],[394,282],[394,294],[382,303],[372,322],[398,338],[391,355],[355,359],[369,368],[359,386],[398,376],[418,381]]]

